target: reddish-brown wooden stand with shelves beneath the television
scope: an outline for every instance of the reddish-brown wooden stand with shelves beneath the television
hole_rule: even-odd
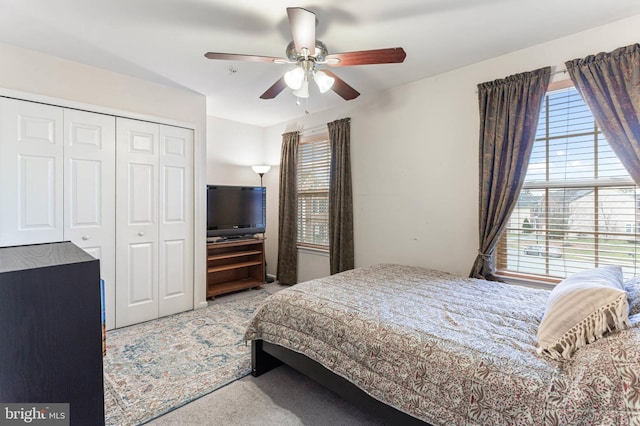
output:
[[[207,298],[265,282],[264,239],[207,243]]]

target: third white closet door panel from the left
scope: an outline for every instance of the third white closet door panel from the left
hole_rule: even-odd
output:
[[[158,317],[158,125],[116,119],[116,327]]]

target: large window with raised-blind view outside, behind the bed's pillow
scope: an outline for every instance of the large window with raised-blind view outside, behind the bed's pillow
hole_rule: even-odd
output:
[[[558,281],[639,271],[640,191],[571,87],[547,93],[524,186],[497,250],[502,275]]]

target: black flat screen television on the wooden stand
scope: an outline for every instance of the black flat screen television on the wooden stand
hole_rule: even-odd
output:
[[[265,232],[267,189],[207,185],[207,237],[238,238]]]

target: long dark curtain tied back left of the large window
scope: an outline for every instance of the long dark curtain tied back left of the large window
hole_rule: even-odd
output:
[[[496,279],[495,249],[527,173],[550,72],[545,67],[478,85],[480,248],[473,278]]]

